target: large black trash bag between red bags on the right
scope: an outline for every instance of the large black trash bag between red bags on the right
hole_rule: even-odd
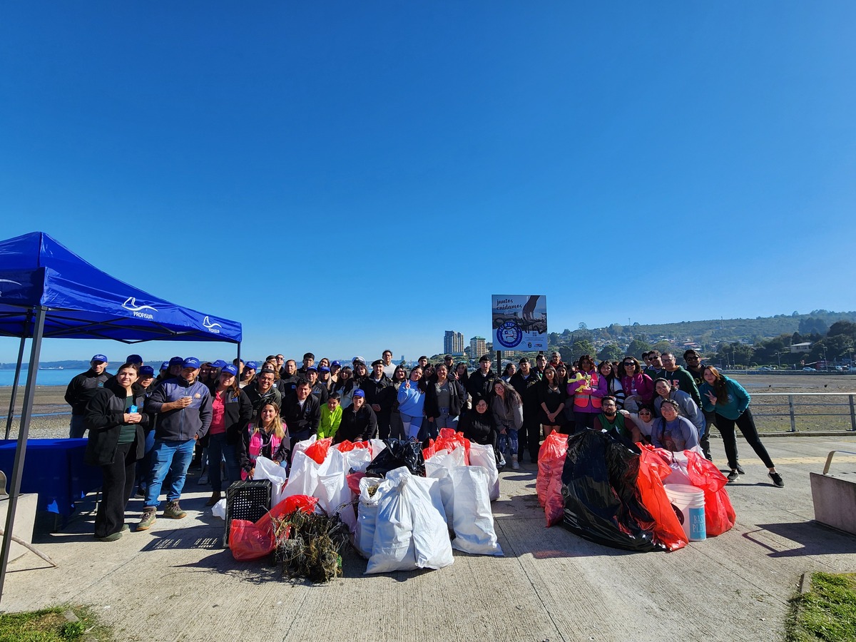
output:
[[[639,450],[627,439],[591,430],[568,438],[562,525],[581,538],[616,549],[666,550],[655,542],[653,531],[639,526],[654,519],[637,498],[638,475]]]

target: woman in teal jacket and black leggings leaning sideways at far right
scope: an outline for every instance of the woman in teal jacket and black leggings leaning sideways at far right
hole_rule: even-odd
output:
[[[732,482],[737,479],[737,475],[743,474],[743,468],[737,461],[737,435],[734,433],[734,425],[737,425],[743,437],[746,437],[746,443],[752,446],[755,454],[769,469],[768,474],[773,484],[782,488],[785,485],[782,475],[776,473],[776,465],[758,437],[755,419],[752,419],[752,411],[749,409],[749,401],[752,399],[749,393],[740,383],[726,377],[714,366],[704,366],[702,377],[704,383],[701,384],[699,392],[704,410],[716,413],[716,428],[722,434],[722,445],[725,446],[725,456],[728,458],[728,467],[731,468],[728,481]]]

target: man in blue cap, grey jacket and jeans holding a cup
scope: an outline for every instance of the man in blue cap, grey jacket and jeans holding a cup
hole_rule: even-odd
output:
[[[157,415],[155,446],[152,449],[152,471],[146,487],[143,516],[137,525],[145,531],[155,522],[163,479],[169,471],[163,516],[180,520],[186,515],[178,505],[187,467],[193,459],[193,447],[205,437],[211,425],[211,391],[199,382],[199,360],[187,357],[181,362],[178,377],[160,383],[146,399],[146,413]]]

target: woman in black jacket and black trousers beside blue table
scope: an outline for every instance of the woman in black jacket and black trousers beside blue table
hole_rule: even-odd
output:
[[[104,474],[95,515],[95,538],[99,542],[115,542],[129,530],[125,508],[134,490],[134,467],[146,451],[144,429],[149,423],[149,416],[140,412],[145,391],[134,394],[137,377],[137,366],[124,364],[86,406],[86,463],[100,466]]]

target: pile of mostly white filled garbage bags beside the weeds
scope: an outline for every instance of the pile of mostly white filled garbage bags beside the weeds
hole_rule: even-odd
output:
[[[313,436],[296,444],[288,479],[263,457],[256,461],[254,479],[273,484],[272,514],[298,497],[301,507],[309,508],[302,499],[309,497],[311,509],[338,514],[354,547],[368,559],[366,573],[443,568],[454,562],[453,548],[502,556],[490,510],[499,496],[496,456],[490,446],[470,443],[460,432],[443,429],[425,449],[415,441],[333,445]],[[238,541],[248,543],[239,545],[242,559],[274,549],[264,526],[247,522],[234,528],[241,529]]]

